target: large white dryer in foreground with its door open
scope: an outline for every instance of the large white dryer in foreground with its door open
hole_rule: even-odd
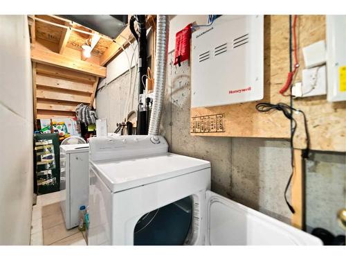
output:
[[[210,191],[210,162],[163,137],[89,140],[89,245],[321,245]]]

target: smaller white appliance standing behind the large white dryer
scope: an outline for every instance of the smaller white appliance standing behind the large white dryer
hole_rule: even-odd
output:
[[[60,207],[67,229],[78,226],[89,200],[89,144],[60,146]]]

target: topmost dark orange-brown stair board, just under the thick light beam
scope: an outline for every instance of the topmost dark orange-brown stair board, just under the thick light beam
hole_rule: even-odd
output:
[[[36,71],[38,74],[53,76],[55,78],[64,78],[68,80],[77,81],[80,83],[93,84],[96,80],[95,76],[69,69],[62,69],[58,67],[48,66],[46,64],[36,64]]]

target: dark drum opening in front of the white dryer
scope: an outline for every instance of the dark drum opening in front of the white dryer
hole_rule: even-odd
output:
[[[134,228],[134,245],[183,245],[192,223],[192,198],[150,211]]]

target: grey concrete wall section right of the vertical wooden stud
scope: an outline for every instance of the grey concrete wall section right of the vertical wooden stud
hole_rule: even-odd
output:
[[[345,153],[315,152],[306,164],[307,230],[327,229],[334,235],[345,234],[336,213],[346,207]]]

